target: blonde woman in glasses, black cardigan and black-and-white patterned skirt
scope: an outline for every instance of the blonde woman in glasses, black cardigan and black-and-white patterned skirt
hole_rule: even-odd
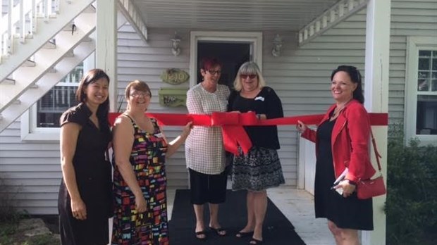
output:
[[[257,63],[246,62],[238,70],[235,92],[230,95],[228,111],[254,111],[259,120],[282,118],[281,99],[266,87]],[[280,148],[276,126],[246,126],[252,149],[233,160],[232,189],[247,190],[247,225],[237,237],[252,235],[250,244],[261,244],[262,224],[267,208],[267,188],[284,184],[278,158]]]

